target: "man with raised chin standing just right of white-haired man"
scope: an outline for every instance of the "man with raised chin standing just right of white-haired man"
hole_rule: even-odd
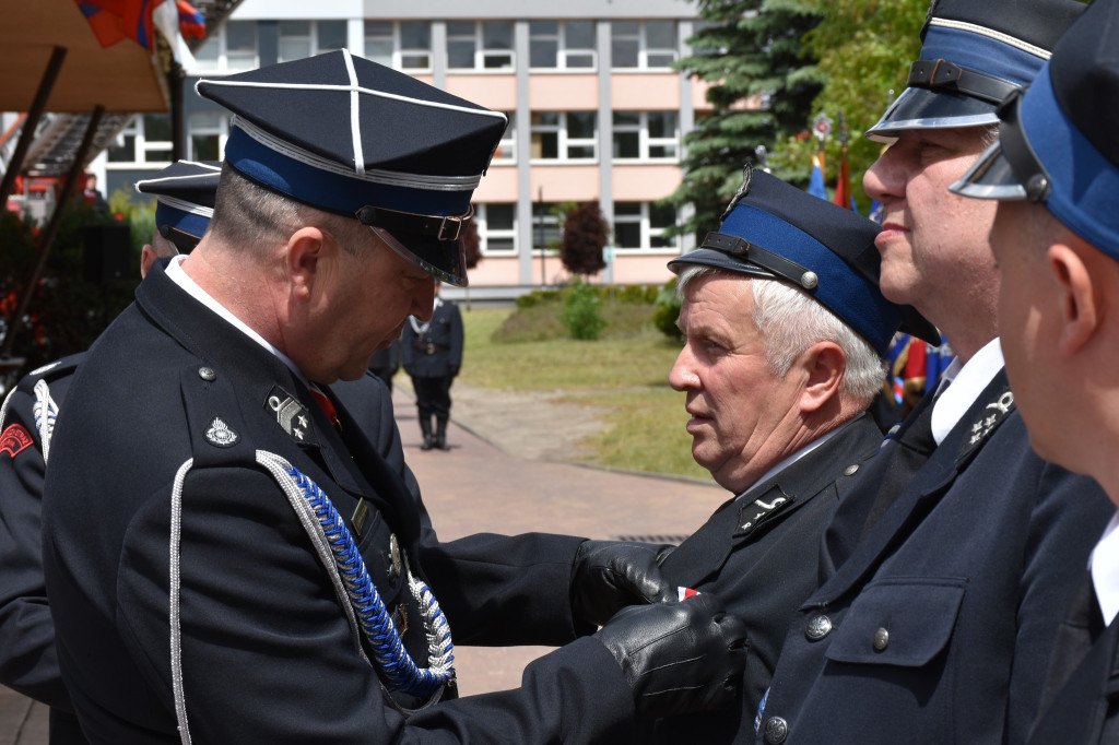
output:
[[[909,87],[869,134],[880,285],[957,353],[840,501],[797,610],[760,743],[1021,743],[1064,607],[1113,511],[1029,447],[1003,370],[994,205],[948,191],[1084,6],[940,0]],[[947,387],[944,387],[947,385]]]

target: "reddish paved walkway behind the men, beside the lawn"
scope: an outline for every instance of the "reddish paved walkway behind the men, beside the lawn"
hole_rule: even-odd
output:
[[[549,407],[551,415],[519,416],[507,408],[502,417],[508,403],[501,394],[491,394],[489,405],[490,396],[479,389],[462,394],[462,411],[457,404],[448,431],[450,452],[421,451],[413,399],[399,387],[393,396],[405,458],[443,540],[479,531],[673,539],[693,532],[728,497],[714,484],[514,454],[523,453],[529,441],[564,440],[565,427],[579,424],[579,412]],[[506,424],[499,425],[501,421]],[[460,690],[471,695],[514,688],[525,664],[547,651],[459,647]],[[0,745],[46,745],[46,730],[45,707],[0,687]]]

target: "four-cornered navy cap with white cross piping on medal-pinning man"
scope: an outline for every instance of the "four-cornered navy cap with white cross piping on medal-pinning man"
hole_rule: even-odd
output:
[[[505,114],[346,49],[196,89],[235,114],[225,158],[239,173],[357,218],[436,279],[466,284],[459,236]]]

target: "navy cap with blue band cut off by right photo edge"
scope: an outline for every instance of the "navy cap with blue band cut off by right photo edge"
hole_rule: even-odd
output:
[[[999,116],[999,141],[950,189],[1043,204],[1119,258],[1119,2],[1096,0]]]

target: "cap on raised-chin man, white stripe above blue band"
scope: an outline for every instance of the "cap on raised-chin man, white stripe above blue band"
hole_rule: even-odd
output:
[[[908,87],[866,136],[890,142],[902,130],[996,123],[998,104],[1033,81],[1084,8],[1078,0],[933,0]]]

